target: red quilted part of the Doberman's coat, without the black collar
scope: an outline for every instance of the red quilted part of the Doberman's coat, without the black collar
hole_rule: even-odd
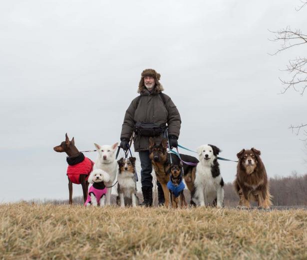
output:
[[[80,180],[79,180],[80,174],[87,174],[86,179],[85,179],[87,180],[89,173],[91,173],[91,171],[93,170],[94,162],[91,159],[85,157],[84,155],[83,157],[84,159],[81,162],[78,162],[76,164],[69,162],[70,164],[68,164],[67,175],[72,183],[80,184]],[[81,159],[82,159],[82,156],[81,156]]]

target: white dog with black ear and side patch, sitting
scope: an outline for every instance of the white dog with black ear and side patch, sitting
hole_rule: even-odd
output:
[[[200,163],[196,167],[195,190],[192,199],[200,206],[216,205],[223,207],[224,180],[220,173],[217,155],[221,150],[212,144],[197,148]]]

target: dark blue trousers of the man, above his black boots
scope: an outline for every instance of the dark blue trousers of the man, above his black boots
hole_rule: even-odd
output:
[[[149,158],[149,150],[147,151],[139,151],[140,161],[141,161],[141,184],[142,187],[153,187],[152,184],[152,165],[151,159]],[[157,185],[161,185],[159,181],[157,181]]]

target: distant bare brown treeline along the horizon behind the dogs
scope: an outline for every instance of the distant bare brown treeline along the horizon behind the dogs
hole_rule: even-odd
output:
[[[270,178],[270,191],[273,196],[273,205],[276,206],[295,206],[295,205],[307,205],[307,174],[298,175],[293,173],[291,176],[280,177],[275,176]],[[233,184],[228,182],[224,186],[225,191],[225,206],[237,206],[239,197],[234,190]],[[138,197],[142,201],[142,192],[138,192]],[[185,190],[185,196],[187,201],[190,201],[190,192]],[[158,204],[157,192],[154,192],[154,204]],[[112,194],[111,203],[115,204],[116,195]],[[68,199],[57,200],[48,199],[43,201],[33,201],[53,204],[68,204]],[[81,196],[74,197],[73,203],[83,204],[83,198]],[[254,203],[253,205],[256,205]]]

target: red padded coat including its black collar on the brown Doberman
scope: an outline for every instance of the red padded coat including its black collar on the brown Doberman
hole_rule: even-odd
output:
[[[85,157],[82,152],[76,157],[67,157],[68,163],[67,174],[72,183],[80,184],[80,174],[86,174],[85,180],[88,179],[89,173],[93,170],[94,162]]]

